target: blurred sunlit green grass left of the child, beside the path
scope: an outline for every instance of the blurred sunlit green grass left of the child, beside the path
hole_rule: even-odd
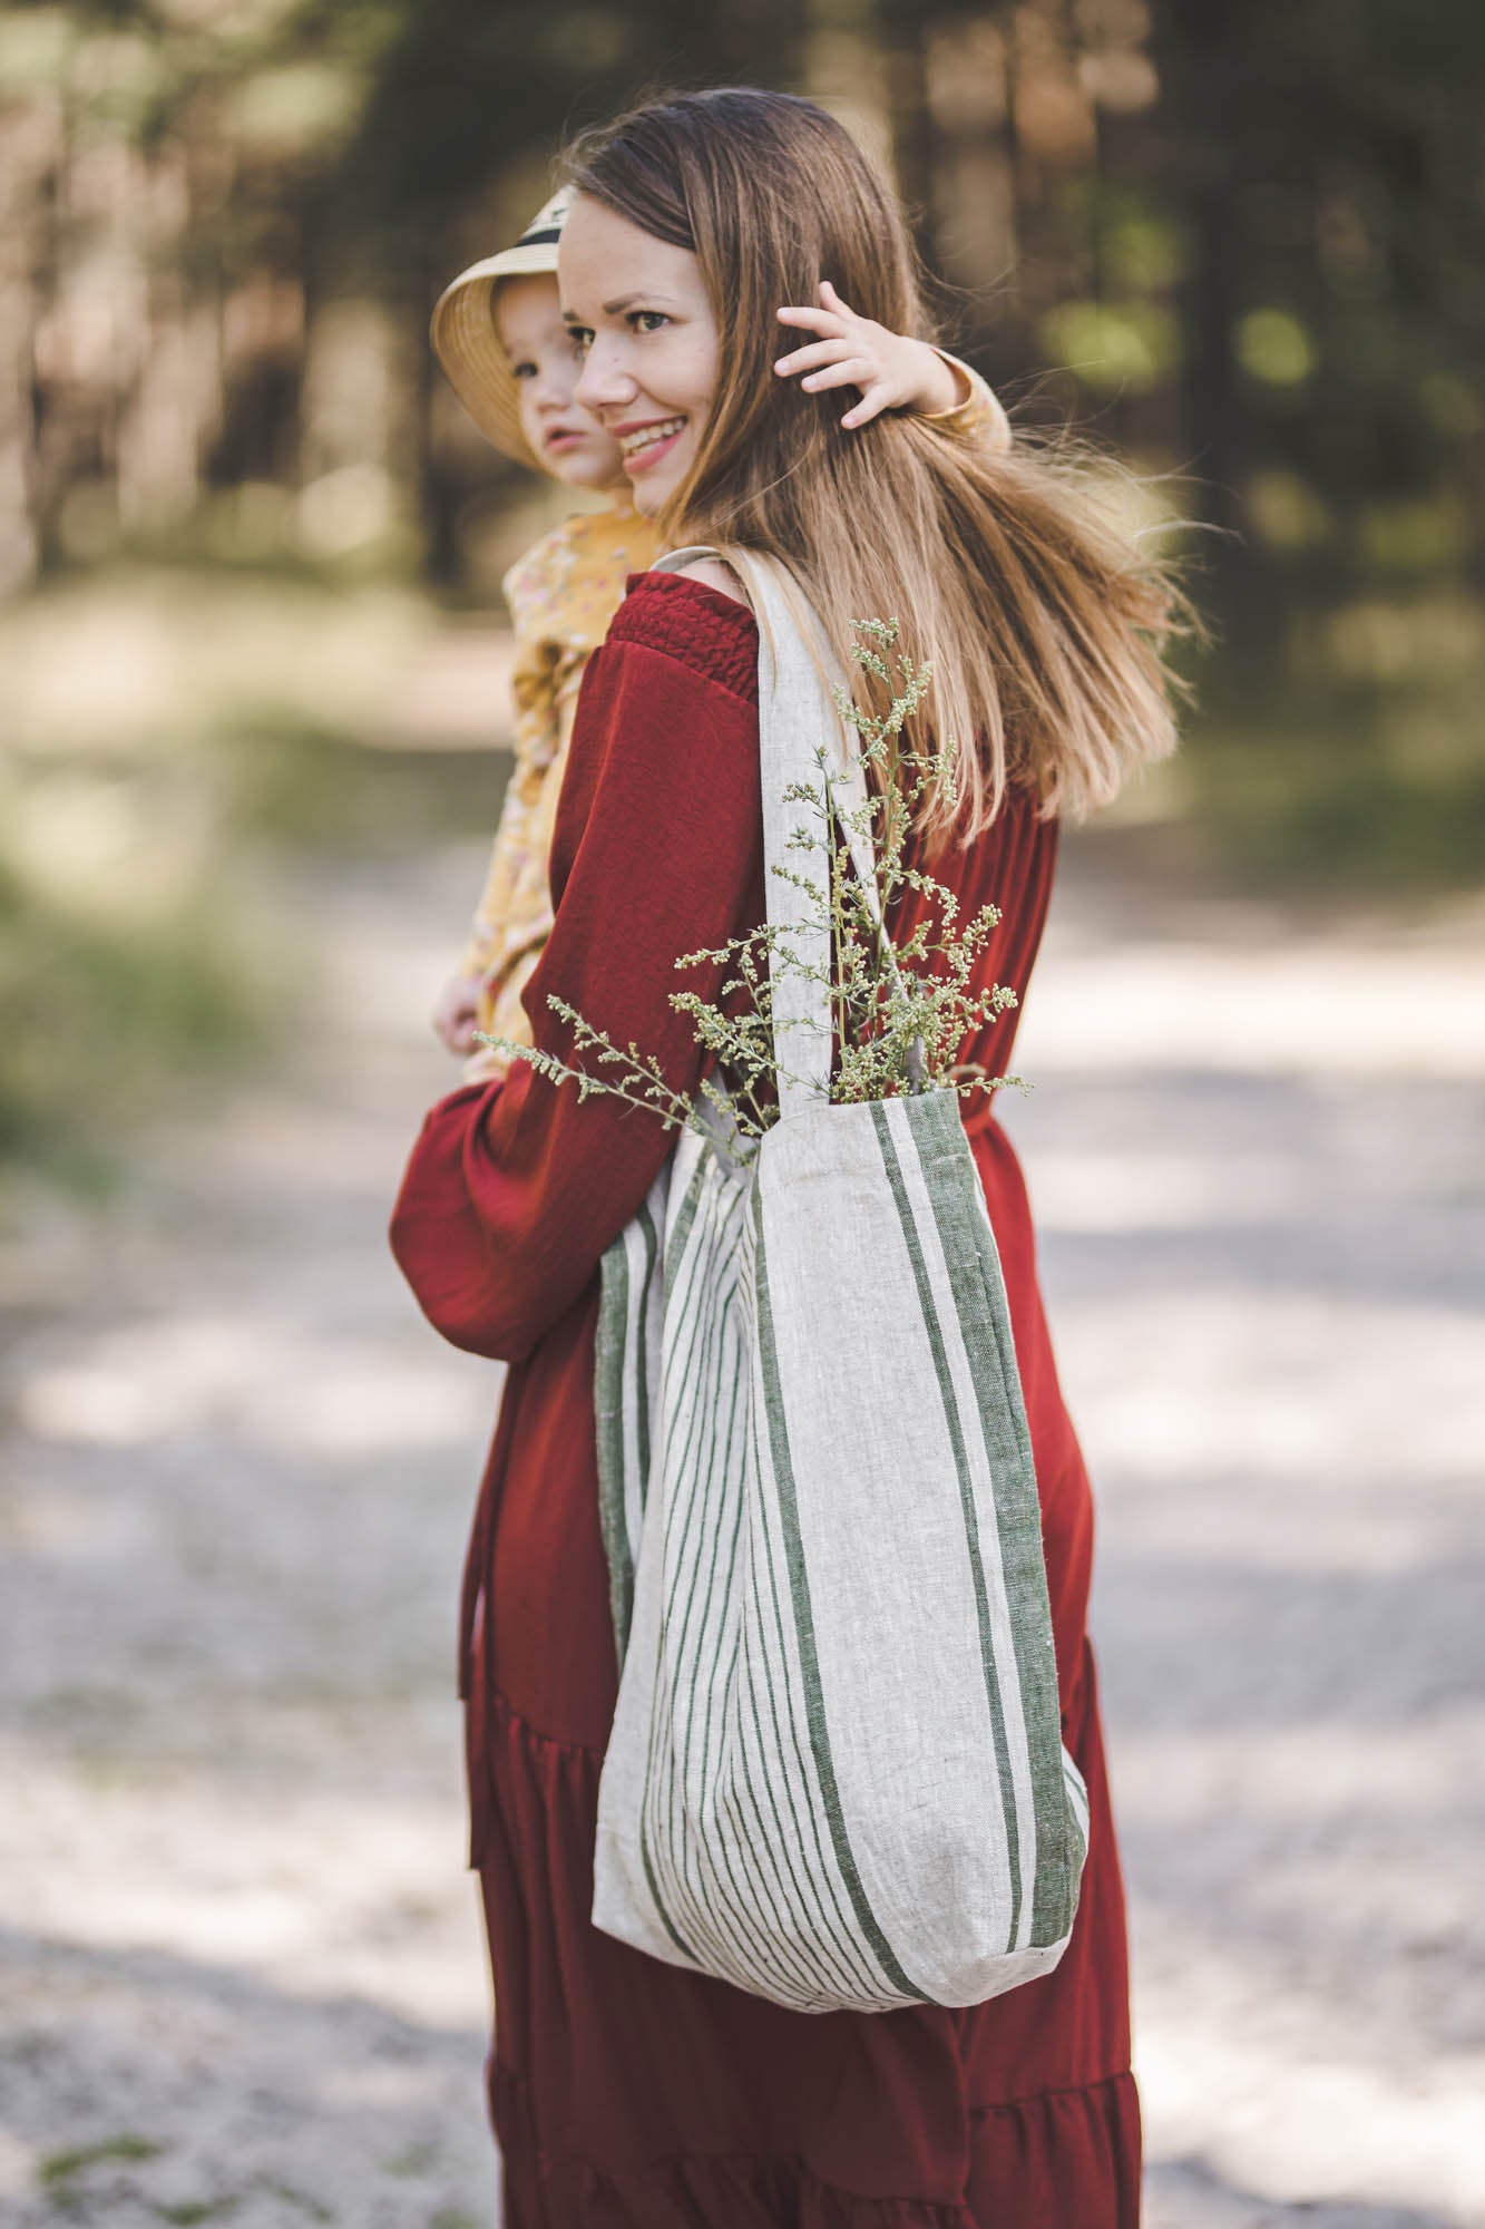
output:
[[[406,588],[167,573],[0,613],[0,1164],[107,1193],[138,1123],[297,1028],[294,878],[493,827],[499,753],[401,707],[439,624]]]

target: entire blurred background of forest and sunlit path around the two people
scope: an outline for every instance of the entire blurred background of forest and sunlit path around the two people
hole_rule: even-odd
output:
[[[1211,644],[1001,1119],[1099,1505],[1151,2229],[1485,2229],[1485,9],[0,4],[0,2213],[475,2229],[497,1371],[386,1250],[508,760],[428,312],[638,91],[832,103]],[[499,2008],[497,2008],[499,2017]]]

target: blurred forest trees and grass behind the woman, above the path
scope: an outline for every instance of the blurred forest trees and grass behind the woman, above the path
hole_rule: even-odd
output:
[[[98,1172],[100,1032],[123,1110],[292,1012],[263,838],[493,818],[479,642],[564,497],[482,444],[428,310],[569,127],[729,78],[832,103],[894,165],[954,345],[1217,528],[1202,709],[1146,823],[1318,901],[1478,878],[1467,0],[7,7],[0,1150]]]

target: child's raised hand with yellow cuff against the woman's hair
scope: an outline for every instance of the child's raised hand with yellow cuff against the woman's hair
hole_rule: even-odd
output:
[[[992,452],[1010,448],[1010,419],[979,372],[928,341],[858,317],[829,279],[821,283],[818,308],[780,310],[778,323],[818,334],[776,361],[780,377],[803,372],[800,386],[812,395],[825,388],[861,390],[861,401],[841,419],[847,430],[867,426],[883,410],[916,410],[950,419],[957,432],[981,439]]]

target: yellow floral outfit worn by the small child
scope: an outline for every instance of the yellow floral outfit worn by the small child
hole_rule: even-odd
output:
[[[992,390],[968,363],[948,361],[970,395],[943,410],[941,424],[990,450],[1008,448],[1010,426]],[[653,524],[615,502],[553,528],[504,577],[515,626],[515,767],[459,972],[479,985],[477,1028],[517,1045],[531,1043],[522,990],[551,929],[546,860],[582,673],[624,600],[627,575],[644,573],[658,555]],[[506,1068],[504,1054],[479,1045],[464,1074],[473,1083]]]

